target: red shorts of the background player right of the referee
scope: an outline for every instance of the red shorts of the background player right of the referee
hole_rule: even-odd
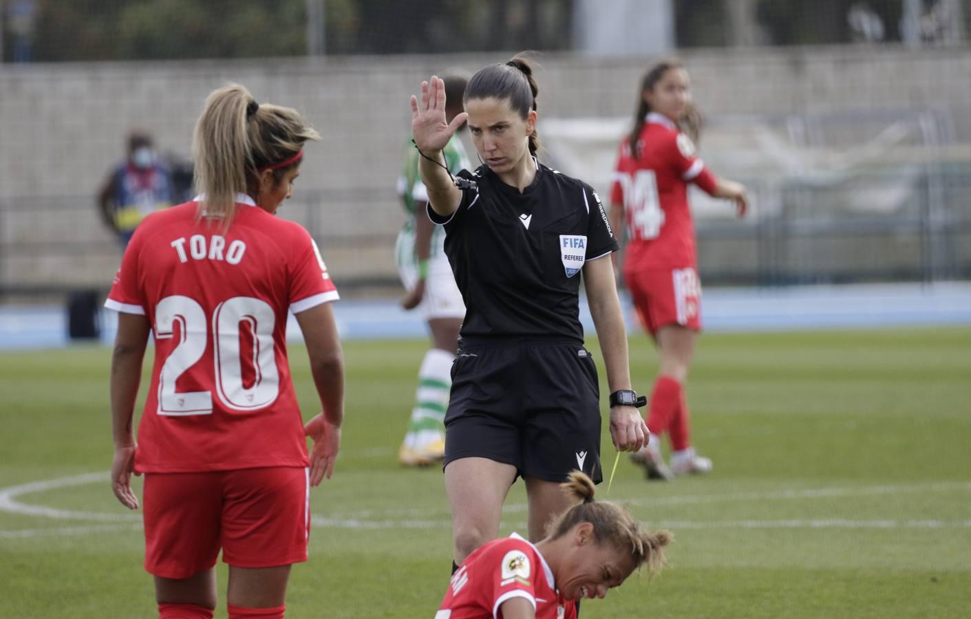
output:
[[[701,330],[701,280],[692,267],[624,270],[624,278],[641,323],[651,335],[670,324]]]

